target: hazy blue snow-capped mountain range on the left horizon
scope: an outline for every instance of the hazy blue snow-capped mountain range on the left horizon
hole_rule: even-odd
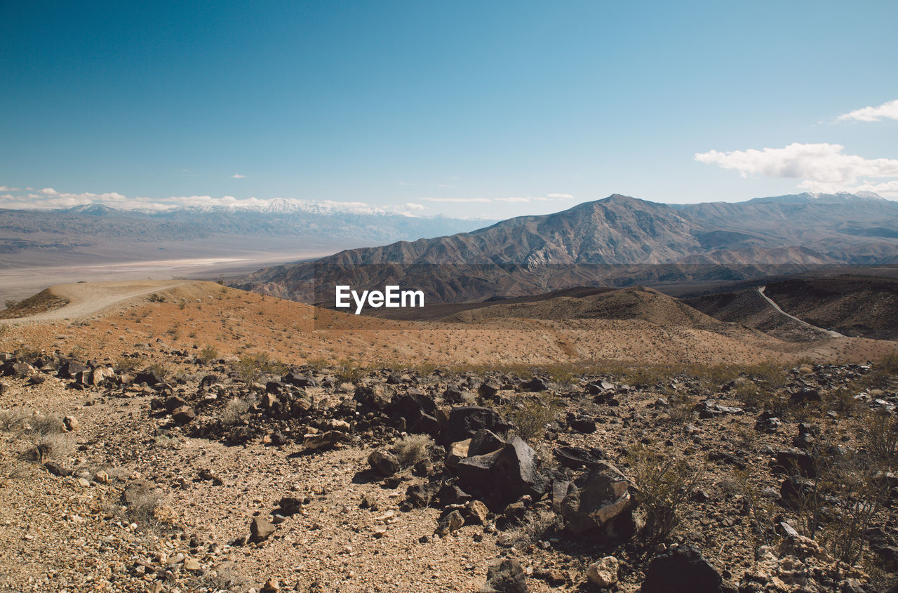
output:
[[[380,208],[329,208],[301,200],[244,200],[245,204],[168,208],[117,209],[90,204],[66,209],[0,209],[0,253],[71,251],[98,243],[167,243],[215,241],[222,236],[257,237],[307,243],[359,245],[470,231],[482,220],[410,217]],[[284,241],[279,243],[284,249]],[[226,248],[226,245],[223,245]],[[26,254],[27,255],[27,254]]]

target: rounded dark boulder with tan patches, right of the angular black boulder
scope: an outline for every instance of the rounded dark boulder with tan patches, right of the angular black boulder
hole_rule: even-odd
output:
[[[561,514],[573,534],[610,527],[613,519],[632,506],[627,478],[604,461],[595,465],[583,488],[570,490],[561,501]]]

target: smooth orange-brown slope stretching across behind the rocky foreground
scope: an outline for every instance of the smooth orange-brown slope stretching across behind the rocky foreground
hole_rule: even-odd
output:
[[[102,295],[104,284],[88,283],[84,289]],[[120,285],[109,289],[134,292]],[[790,343],[727,323],[706,329],[646,319],[392,321],[188,281],[156,287],[81,316],[0,321],[0,351],[78,350],[106,364],[123,356],[149,364],[160,352],[199,353],[207,348],[219,357],[264,354],[291,365],[751,364],[799,358],[863,362],[895,347],[894,342],[854,338]]]

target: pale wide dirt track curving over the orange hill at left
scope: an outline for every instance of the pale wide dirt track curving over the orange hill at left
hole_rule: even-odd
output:
[[[57,284],[50,290],[58,297],[67,298],[69,301],[67,305],[28,317],[0,320],[0,323],[44,322],[87,317],[132,298],[143,297],[149,293],[177,288],[189,283],[189,280],[121,280]]]

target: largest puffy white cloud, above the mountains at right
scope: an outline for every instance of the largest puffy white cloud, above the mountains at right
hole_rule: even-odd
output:
[[[696,153],[695,160],[717,164],[724,169],[738,171],[743,177],[764,175],[801,179],[799,188],[812,191],[875,191],[880,187],[884,195],[898,195],[892,181],[876,183],[876,178],[898,178],[898,159],[867,159],[845,155],[838,144],[790,144],[785,148],[735,150],[729,153],[710,150]]]

